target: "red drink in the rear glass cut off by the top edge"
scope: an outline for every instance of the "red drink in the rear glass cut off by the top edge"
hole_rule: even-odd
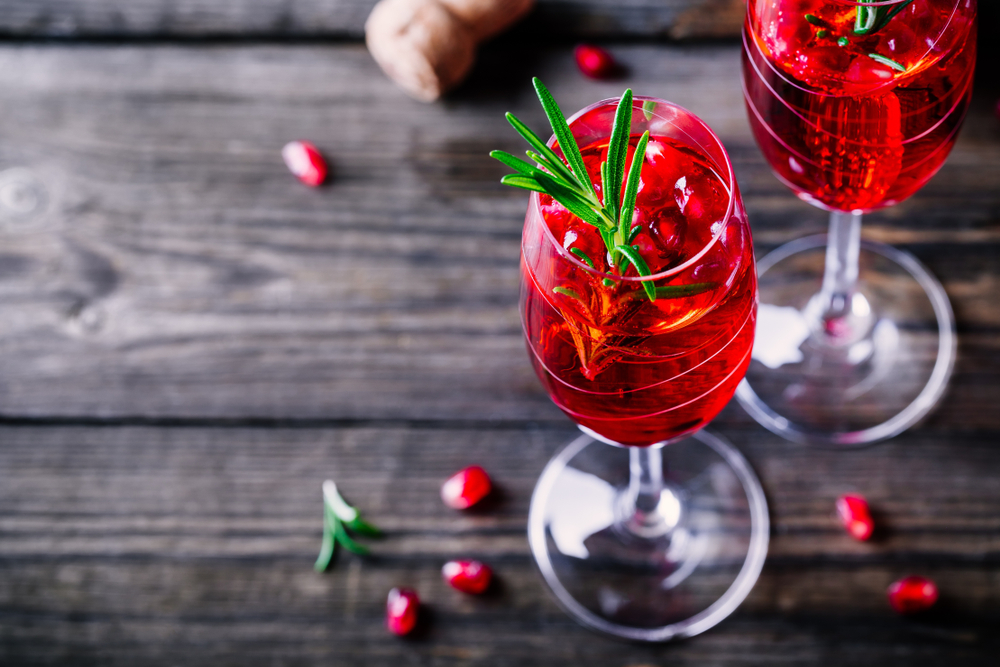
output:
[[[870,211],[906,199],[941,167],[972,94],[976,0],[901,7],[856,33],[848,0],[749,0],[743,83],[772,169],[802,199]]]

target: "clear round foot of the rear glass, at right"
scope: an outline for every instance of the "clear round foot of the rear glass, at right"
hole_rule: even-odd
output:
[[[736,397],[788,440],[861,446],[901,433],[941,398],[955,361],[955,317],[916,258],[862,242],[847,314],[824,321],[815,297],[826,241],[799,239],[757,264],[757,335]]]

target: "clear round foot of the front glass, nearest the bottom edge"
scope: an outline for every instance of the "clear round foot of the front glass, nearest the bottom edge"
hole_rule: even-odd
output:
[[[582,435],[531,498],[528,540],[562,607],[593,629],[662,642],[731,614],[767,554],[767,503],[746,459],[704,431],[663,447],[665,529],[630,524],[629,450]]]

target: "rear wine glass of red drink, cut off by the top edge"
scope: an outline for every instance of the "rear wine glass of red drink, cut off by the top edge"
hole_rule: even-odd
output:
[[[774,173],[831,211],[829,234],[758,265],[757,346],[737,397],[790,440],[894,436],[941,397],[955,322],[912,255],[861,241],[861,216],[941,167],[972,94],[976,0],[749,0],[743,85]]]

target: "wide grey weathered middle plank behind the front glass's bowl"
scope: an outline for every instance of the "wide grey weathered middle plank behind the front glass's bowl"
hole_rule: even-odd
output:
[[[753,144],[734,47],[618,55],[632,75],[598,84],[568,49],[496,51],[424,105],[360,46],[0,48],[0,171],[44,191],[35,214],[0,215],[0,414],[560,421],[520,338],[525,196],[486,157],[518,148],[503,111],[543,125],[530,74],[567,108],[627,83],[705,117],[761,249],[823,226]],[[986,102],[935,180],[867,233],[913,250],[962,331],[990,334],[1000,138]],[[287,174],[278,152],[295,137],[327,152],[332,185]],[[963,338],[937,423],[997,426],[995,347]]]

